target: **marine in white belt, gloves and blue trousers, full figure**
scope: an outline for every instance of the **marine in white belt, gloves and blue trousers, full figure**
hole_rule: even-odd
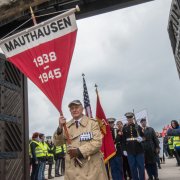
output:
[[[128,123],[123,127],[123,154],[127,156],[133,180],[144,180],[144,150],[142,128],[134,123],[134,113],[125,114]]]

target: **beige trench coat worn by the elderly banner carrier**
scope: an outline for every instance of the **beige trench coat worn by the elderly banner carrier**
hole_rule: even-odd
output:
[[[69,154],[65,158],[65,180],[108,180],[104,160],[100,148],[102,145],[102,134],[98,122],[86,116],[80,121],[76,128],[74,120],[67,123],[72,147],[79,148],[84,158],[80,168],[75,167],[74,160],[70,159]],[[83,139],[83,133],[92,133],[92,139]],[[62,136],[59,136],[62,138]],[[81,138],[81,141],[80,141]],[[83,139],[83,140],[82,140]]]

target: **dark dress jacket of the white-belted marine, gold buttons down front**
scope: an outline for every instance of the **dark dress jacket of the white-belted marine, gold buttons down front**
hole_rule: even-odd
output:
[[[141,137],[144,136],[142,128],[138,125],[138,132]],[[129,138],[137,138],[137,131],[135,124],[125,125],[123,127],[123,150],[127,151],[128,154],[141,154],[144,152],[143,146],[141,143],[136,140],[129,140]]]

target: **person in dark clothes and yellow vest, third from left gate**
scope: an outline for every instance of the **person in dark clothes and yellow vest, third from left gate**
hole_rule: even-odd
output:
[[[48,179],[53,179],[54,177],[51,175],[51,173],[52,165],[54,164],[54,144],[50,140],[47,140],[46,144],[48,145]]]

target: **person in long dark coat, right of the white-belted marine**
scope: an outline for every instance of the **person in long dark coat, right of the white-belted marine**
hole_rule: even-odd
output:
[[[145,118],[142,118],[141,126],[144,132],[144,141],[142,142],[144,147],[145,156],[145,168],[149,176],[149,180],[159,180],[158,169],[156,165],[156,154],[159,151],[159,141],[156,137],[156,133],[152,127],[147,127]]]

